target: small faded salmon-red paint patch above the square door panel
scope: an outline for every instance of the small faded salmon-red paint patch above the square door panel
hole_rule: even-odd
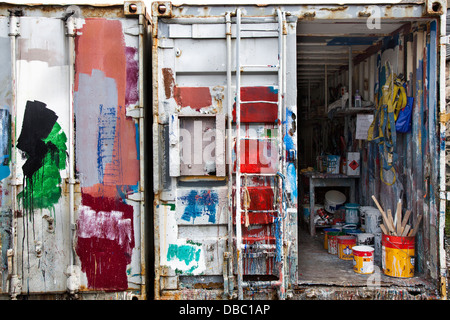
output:
[[[175,87],[174,98],[180,107],[191,107],[197,111],[212,105],[208,87]]]

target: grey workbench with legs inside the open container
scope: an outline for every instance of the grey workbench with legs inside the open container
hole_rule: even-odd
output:
[[[302,172],[301,175],[309,179],[309,228],[310,234],[316,234],[316,226],[314,224],[314,206],[315,206],[315,188],[316,187],[349,187],[350,202],[356,200],[356,179],[359,176],[348,176],[345,174],[331,174],[321,172]],[[304,187],[300,183],[300,192],[303,198]]]

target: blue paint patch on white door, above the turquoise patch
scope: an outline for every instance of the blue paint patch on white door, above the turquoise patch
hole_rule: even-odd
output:
[[[216,206],[219,202],[217,193],[211,190],[197,192],[192,190],[187,196],[179,197],[182,203],[187,203],[181,219],[194,223],[195,218],[208,216],[208,222],[216,222]]]

